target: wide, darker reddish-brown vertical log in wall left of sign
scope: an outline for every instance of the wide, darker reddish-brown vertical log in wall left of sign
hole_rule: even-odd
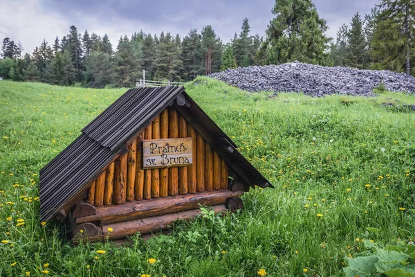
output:
[[[114,191],[113,191],[113,203],[122,204],[125,203],[127,195],[125,193],[127,185],[127,154],[120,155],[116,159],[116,168],[114,169]]]

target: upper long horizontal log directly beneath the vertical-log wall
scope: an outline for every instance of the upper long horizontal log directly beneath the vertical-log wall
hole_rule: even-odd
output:
[[[211,190],[202,193],[169,196],[149,199],[145,201],[127,202],[123,205],[100,206],[95,208],[95,215],[76,219],[76,223],[98,222],[109,224],[136,220],[139,218],[165,215],[178,211],[187,211],[198,208],[199,204],[211,206],[223,204],[230,197],[243,195],[243,191]]]

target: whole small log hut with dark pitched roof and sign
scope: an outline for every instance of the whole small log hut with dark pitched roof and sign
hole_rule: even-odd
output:
[[[74,241],[154,233],[199,215],[200,205],[235,211],[250,187],[273,187],[172,86],[124,93],[39,177],[41,220],[66,222]]]

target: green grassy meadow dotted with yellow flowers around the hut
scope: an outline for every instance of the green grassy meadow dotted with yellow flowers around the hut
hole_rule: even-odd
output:
[[[367,253],[356,238],[415,238],[414,164],[395,151],[414,143],[415,113],[380,107],[414,95],[269,99],[198,78],[187,93],[275,189],[147,243],[72,247],[64,226],[39,222],[39,170],[124,91],[0,82],[0,276],[44,276],[46,263],[48,276],[343,276],[346,256]]]

